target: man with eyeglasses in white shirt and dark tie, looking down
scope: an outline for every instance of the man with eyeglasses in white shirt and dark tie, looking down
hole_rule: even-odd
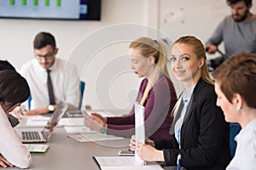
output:
[[[69,109],[79,106],[79,75],[76,67],[66,60],[56,58],[58,48],[55,37],[49,32],[39,32],[33,42],[35,58],[22,65],[20,74],[26,78],[31,90],[30,111],[26,115],[53,112],[64,100]]]

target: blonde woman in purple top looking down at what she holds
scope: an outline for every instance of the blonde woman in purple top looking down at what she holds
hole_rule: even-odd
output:
[[[164,42],[140,37],[131,42],[129,51],[131,70],[141,82],[136,102],[144,106],[145,133],[149,139],[172,139],[172,108],[176,93],[166,68]],[[134,106],[129,116],[103,117],[97,113],[84,116],[84,125],[91,130],[116,136],[131,137],[135,133]]]

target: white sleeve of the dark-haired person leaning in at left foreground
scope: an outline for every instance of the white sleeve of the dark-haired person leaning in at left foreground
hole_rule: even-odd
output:
[[[21,144],[20,138],[11,127],[5,111],[0,105],[0,153],[10,163],[20,168],[27,168],[32,157],[26,146]]]

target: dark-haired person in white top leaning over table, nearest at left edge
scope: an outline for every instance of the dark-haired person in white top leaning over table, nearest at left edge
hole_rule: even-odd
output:
[[[26,101],[30,94],[24,77],[11,70],[0,71],[0,166],[27,168],[32,157],[11,126],[6,113]]]

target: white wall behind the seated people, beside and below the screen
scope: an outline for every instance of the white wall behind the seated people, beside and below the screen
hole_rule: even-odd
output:
[[[8,59],[19,70],[22,64],[33,58],[32,41],[38,31],[49,31],[60,48],[57,56],[77,65],[80,78],[86,82],[84,104],[96,109],[129,110],[141,81],[129,70],[129,61],[125,57],[129,42],[141,36],[174,40],[183,34],[194,34],[205,41],[218,25],[217,21],[222,20],[222,12],[230,14],[223,0],[218,0],[218,3],[222,2],[218,7],[209,5],[213,3],[207,0],[195,2],[102,0],[100,21],[0,19],[0,58]],[[166,10],[171,13],[174,10],[177,14],[179,8],[184,9],[181,13],[184,22],[180,22],[180,17],[163,22]],[[214,15],[214,8],[221,14]],[[254,4],[253,13],[255,8]],[[207,19],[209,16],[215,17],[215,22],[212,22],[212,17]],[[210,26],[205,23],[207,20],[211,29],[205,28]],[[179,94],[182,90],[180,83],[175,79],[172,81]]]

